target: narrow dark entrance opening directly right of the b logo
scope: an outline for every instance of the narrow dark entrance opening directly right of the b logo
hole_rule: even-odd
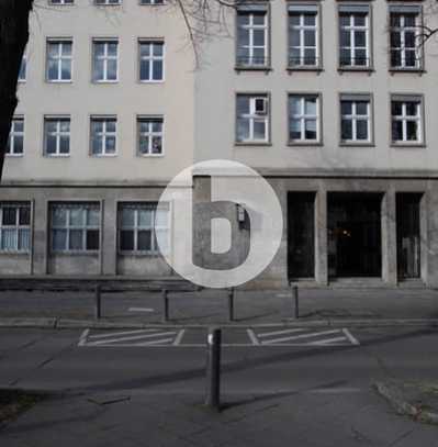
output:
[[[315,277],[315,192],[288,193],[288,272]]]

